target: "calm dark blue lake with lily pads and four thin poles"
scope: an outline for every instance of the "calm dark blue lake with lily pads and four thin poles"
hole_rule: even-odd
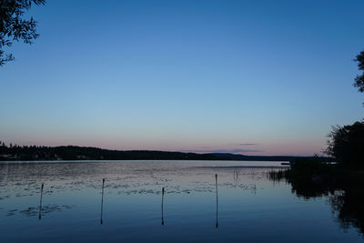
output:
[[[362,197],[270,180],[279,169],[253,161],[1,162],[1,242],[364,241],[355,208]]]

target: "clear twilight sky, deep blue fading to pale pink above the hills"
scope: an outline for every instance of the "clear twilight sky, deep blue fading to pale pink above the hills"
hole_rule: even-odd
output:
[[[321,154],[363,118],[364,1],[52,1],[5,49],[0,140]]]

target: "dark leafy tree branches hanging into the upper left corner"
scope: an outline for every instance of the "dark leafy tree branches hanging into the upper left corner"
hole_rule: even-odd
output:
[[[12,46],[14,41],[32,44],[38,36],[34,18],[23,18],[32,5],[45,5],[45,0],[0,0],[0,66],[14,60],[3,47]]]

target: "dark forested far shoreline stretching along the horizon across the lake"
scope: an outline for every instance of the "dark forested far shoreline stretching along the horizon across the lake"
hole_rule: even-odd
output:
[[[111,150],[98,147],[0,146],[0,161],[83,161],[83,160],[236,160],[294,162],[297,156],[246,156],[229,153],[187,153],[157,150]],[[307,157],[310,158],[310,157]],[[331,157],[319,157],[333,161]]]

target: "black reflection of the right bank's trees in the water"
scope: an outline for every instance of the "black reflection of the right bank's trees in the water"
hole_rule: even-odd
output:
[[[275,177],[270,178],[277,180]],[[286,181],[291,185],[292,193],[298,197],[328,197],[332,213],[340,226],[344,229],[358,228],[364,236],[364,188],[361,186],[363,177],[287,178]]]

